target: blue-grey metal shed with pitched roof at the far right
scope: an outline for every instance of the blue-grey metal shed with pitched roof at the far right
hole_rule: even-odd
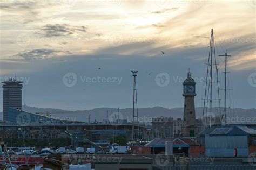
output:
[[[198,134],[197,141],[209,157],[248,157],[256,152],[256,125],[211,126]]]

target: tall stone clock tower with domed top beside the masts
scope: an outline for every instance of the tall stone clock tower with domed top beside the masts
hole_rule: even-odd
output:
[[[181,127],[181,133],[186,137],[194,137],[197,133],[196,126],[196,110],[194,108],[194,96],[196,96],[196,82],[191,77],[190,70],[188,70],[187,78],[183,82],[183,96],[184,101],[184,124]]]

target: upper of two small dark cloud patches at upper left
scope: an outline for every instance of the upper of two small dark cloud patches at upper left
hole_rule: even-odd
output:
[[[35,32],[44,37],[70,36],[76,32],[86,32],[85,26],[70,26],[68,24],[47,24],[41,28],[41,31]]]

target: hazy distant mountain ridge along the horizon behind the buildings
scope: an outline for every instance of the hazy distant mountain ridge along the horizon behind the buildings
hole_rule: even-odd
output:
[[[111,113],[118,112],[118,108],[95,108],[91,110],[77,110],[77,111],[68,111],[62,109],[54,109],[54,108],[37,108],[37,107],[30,107],[28,105],[23,105],[23,111],[32,112],[32,113],[42,113],[42,112],[49,112],[51,113],[50,116],[54,118],[69,118],[71,121],[81,121],[87,122],[89,121],[103,121],[103,119],[111,119]],[[154,117],[173,117],[173,119],[183,118],[183,109],[180,108],[172,108],[167,109],[164,107],[152,107],[152,108],[138,108],[138,115],[140,121],[151,122],[152,118]],[[227,117],[243,117],[244,119],[250,118],[252,123],[256,123],[256,109],[241,109],[241,108],[234,108],[230,109],[232,114],[227,114]],[[107,113],[108,111],[108,113]],[[212,109],[213,114],[217,113],[217,108]],[[203,115],[203,108],[198,107],[196,108],[196,117],[201,118]],[[219,114],[215,114],[219,115]],[[1,115],[2,117],[2,112]],[[132,120],[132,108],[124,108],[120,109],[120,118],[127,119],[128,121]]]

